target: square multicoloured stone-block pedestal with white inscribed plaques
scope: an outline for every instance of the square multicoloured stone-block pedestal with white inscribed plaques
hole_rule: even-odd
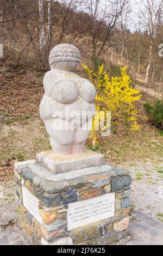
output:
[[[18,225],[32,245],[108,245],[127,234],[131,177],[109,164],[53,174],[15,163]]]

